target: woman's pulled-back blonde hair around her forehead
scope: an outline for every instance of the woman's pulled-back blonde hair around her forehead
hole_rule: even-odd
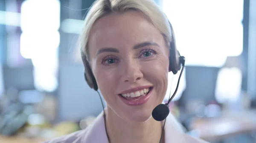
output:
[[[129,10],[142,13],[163,34],[166,41],[171,41],[172,31],[168,19],[153,0],[96,0],[85,17],[79,40],[81,52],[84,52],[87,61],[89,60],[88,38],[96,20],[113,12],[123,13]]]

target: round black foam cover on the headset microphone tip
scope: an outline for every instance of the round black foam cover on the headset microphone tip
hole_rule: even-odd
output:
[[[156,121],[163,121],[169,115],[170,109],[166,104],[159,104],[152,111],[152,117]]]

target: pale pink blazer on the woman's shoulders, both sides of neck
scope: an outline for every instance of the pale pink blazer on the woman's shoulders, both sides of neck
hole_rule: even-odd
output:
[[[208,143],[199,138],[185,134],[172,114],[169,114],[166,118],[164,137],[166,143]],[[103,113],[99,114],[93,124],[86,129],[44,143],[108,143]]]

